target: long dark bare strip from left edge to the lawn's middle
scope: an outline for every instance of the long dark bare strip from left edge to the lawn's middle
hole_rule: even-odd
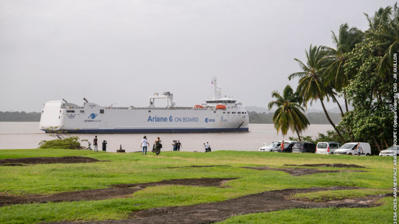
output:
[[[21,204],[21,203],[47,203],[60,201],[88,201],[88,200],[104,200],[118,197],[126,197],[136,191],[140,191],[145,187],[153,187],[160,185],[186,185],[186,186],[203,186],[203,187],[222,187],[223,183],[228,180],[238,178],[200,178],[200,179],[172,179],[150,183],[132,183],[113,185],[113,188],[91,189],[85,191],[69,191],[57,193],[49,196],[39,197],[13,197],[1,196],[0,206]],[[135,187],[135,188],[130,188]]]

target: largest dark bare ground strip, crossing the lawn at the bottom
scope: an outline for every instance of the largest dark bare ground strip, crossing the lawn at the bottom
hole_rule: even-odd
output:
[[[84,224],[205,224],[225,220],[226,218],[256,213],[284,210],[291,208],[355,208],[376,206],[377,199],[383,195],[373,195],[365,198],[332,201],[329,203],[290,201],[285,197],[296,193],[316,191],[348,190],[357,187],[312,187],[305,189],[284,189],[267,191],[254,195],[246,195],[227,201],[205,203],[181,207],[150,208],[133,212],[129,219],[107,220],[99,222],[83,222]],[[53,222],[53,224],[73,224],[76,222]]]

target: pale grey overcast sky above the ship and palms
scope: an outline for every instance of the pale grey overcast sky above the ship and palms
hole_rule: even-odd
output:
[[[293,58],[333,46],[331,30],[365,30],[387,0],[0,0],[0,111],[41,111],[49,100],[177,106],[223,95],[267,107],[297,80]],[[161,106],[164,102],[156,103]],[[329,108],[336,104],[328,104]],[[321,109],[319,102],[312,109]]]

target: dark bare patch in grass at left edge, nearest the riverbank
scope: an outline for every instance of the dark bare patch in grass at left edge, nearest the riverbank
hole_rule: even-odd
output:
[[[63,156],[63,157],[28,157],[0,160],[0,164],[75,164],[75,163],[94,163],[103,162],[95,158],[83,156]]]

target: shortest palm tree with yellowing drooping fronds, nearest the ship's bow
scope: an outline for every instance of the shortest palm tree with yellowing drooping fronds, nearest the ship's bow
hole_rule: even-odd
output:
[[[269,102],[269,110],[274,106],[277,106],[277,110],[273,115],[273,123],[277,134],[281,130],[282,135],[286,135],[288,129],[295,131],[298,135],[299,141],[300,134],[309,125],[309,121],[306,116],[302,113],[305,110],[300,106],[302,98],[298,96],[298,93],[294,93],[290,85],[287,85],[282,96],[279,92],[273,91],[272,97],[276,98],[275,101]]]

